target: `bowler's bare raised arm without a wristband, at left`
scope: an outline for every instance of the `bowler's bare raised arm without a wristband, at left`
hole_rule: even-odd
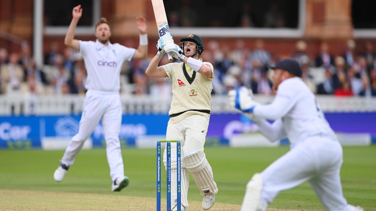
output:
[[[65,35],[64,44],[70,48],[73,48],[76,51],[79,51],[80,43],[78,42],[77,39],[73,39],[73,38],[74,38],[74,31],[76,30],[77,23],[82,16],[81,5],[78,5],[73,8],[72,15],[73,15],[73,18],[69,25],[67,34]]]

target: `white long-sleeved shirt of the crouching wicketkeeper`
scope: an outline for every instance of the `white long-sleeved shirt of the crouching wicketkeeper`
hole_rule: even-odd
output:
[[[253,114],[270,120],[282,119],[282,132],[293,145],[312,136],[337,139],[315,95],[299,77],[282,81],[274,101],[268,105],[256,105]]]

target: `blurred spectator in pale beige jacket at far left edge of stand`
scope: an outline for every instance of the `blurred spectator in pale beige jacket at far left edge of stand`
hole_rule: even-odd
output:
[[[18,55],[12,53],[9,63],[3,65],[0,73],[2,93],[18,92],[23,81],[24,71],[18,63]]]

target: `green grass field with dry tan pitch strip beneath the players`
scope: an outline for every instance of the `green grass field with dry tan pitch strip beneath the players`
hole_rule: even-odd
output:
[[[261,172],[288,150],[205,148],[219,189],[213,207],[219,208],[214,210],[238,210],[253,173]],[[82,150],[62,182],[53,180],[53,172],[64,151],[0,151],[0,210],[155,210],[156,150],[122,152],[130,185],[113,193],[105,149]],[[163,171],[162,178],[165,196]],[[344,147],[341,179],[349,203],[376,210],[376,146]],[[190,211],[202,210],[202,196],[192,178],[190,181],[188,199],[194,204]],[[323,210],[308,183],[283,191],[270,208]]]

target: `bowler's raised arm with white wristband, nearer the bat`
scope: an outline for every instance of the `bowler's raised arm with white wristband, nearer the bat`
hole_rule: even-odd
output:
[[[146,19],[142,16],[136,17],[136,24],[137,29],[139,32],[140,37],[140,44],[133,56],[133,59],[145,59],[147,57],[147,27],[146,27]]]

